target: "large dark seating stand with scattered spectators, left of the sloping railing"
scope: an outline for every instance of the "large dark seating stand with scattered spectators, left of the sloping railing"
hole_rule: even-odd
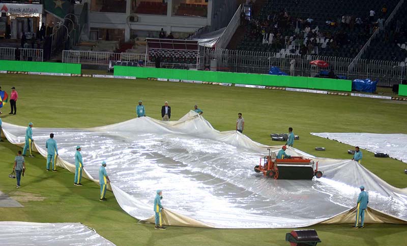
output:
[[[246,25],[238,49],[355,57],[377,28],[377,19],[388,17],[397,3],[268,0]]]

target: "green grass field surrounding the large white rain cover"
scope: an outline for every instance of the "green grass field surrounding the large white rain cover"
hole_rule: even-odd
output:
[[[245,118],[245,134],[253,140],[275,145],[271,132],[286,132],[289,126],[300,135],[295,147],[328,158],[351,158],[352,147],[312,136],[309,132],[407,133],[407,104],[396,101],[344,97],[277,90],[216,85],[182,84],[147,80],[117,80],[76,77],[0,75],[0,86],[19,93],[17,115],[3,109],[4,122],[35,127],[94,127],[117,123],[135,116],[139,99],[147,115],[159,119],[161,106],[169,101],[172,119],[178,119],[198,103],[203,116],[221,131],[233,130],[237,113]],[[35,132],[34,132],[35,134]],[[79,143],[80,144],[80,143]],[[326,147],[316,152],[316,146]],[[59,168],[46,172],[45,159],[26,158],[27,175],[16,193],[15,180],[6,178],[19,148],[0,143],[0,190],[17,199],[23,208],[0,208],[0,221],[81,222],[117,245],[289,245],[290,229],[202,229],[170,227],[157,231],[151,224],[138,224],[115,201],[99,202],[99,186],[90,181],[73,186],[74,174]],[[248,166],[254,166],[248,163]],[[374,158],[364,151],[362,164],[396,187],[407,187],[405,163]],[[367,188],[368,190],[368,188]],[[153,197],[153,195],[152,195]],[[164,201],[165,203],[165,201]],[[317,204],[315,205],[317,206]],[[377,224],[364,229],[352,225],[316,225],[321,245],[404,245],[407,226]],[[318,244],[319,245],[319,244]]]

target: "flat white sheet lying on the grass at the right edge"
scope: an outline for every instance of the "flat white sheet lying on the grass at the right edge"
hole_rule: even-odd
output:
[[[377,134],[355,132],[311,133],[340,143],[359,146],[371,152],[388,154],[391,158],[407,163],[407,134]]]

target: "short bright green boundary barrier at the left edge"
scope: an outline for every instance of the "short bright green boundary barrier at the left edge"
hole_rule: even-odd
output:
[[[81,64],[0,60],[0,70],[17,72],[55,73],[55,74],[80,74]]]

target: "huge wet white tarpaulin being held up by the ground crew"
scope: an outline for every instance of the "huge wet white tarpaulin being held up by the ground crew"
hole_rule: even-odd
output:
[[[22,145],[26,127],[3,123],[3,128],[10,142]],[[318,161],[324,177],[265,178],[253,167],[267,148],[278,151],[281,146],[258,144],[237,131],[217,131],[192,111],[170,122],[142,117],[89,129],[33,128],[35,148],[43,156],[51,132],[59,146],[59,166],[74,171],[70,163],[80,145],[85,177],[98,180],[105,160],[115,198],[140,220],[154,222],[153,200],[162,189],[167,225],[303,227],[347,213],[364,185],[370,207],[407,221],[407,189],[390,186],[357,162],[315,158],[288,148],[287,154]]]

